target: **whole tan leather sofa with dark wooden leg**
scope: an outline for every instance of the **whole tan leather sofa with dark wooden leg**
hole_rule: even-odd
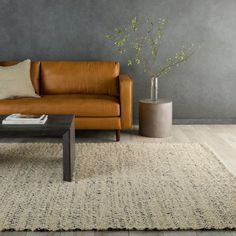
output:
[[[117,140],[132,126],[132,80],[118,62],[32,62],[31,80],[41,98],[0,100],[0,114],[74,114],[76,129],[116,130]]]

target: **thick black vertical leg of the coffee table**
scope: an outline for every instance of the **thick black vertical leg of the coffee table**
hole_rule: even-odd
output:
[[[74,125],[63,135],[63,180],[71,182],[75,156]]]

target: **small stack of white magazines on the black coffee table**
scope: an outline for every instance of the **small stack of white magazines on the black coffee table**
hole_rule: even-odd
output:
[[[7,116],[2,124],[15,125],[15,124],[45,124],[48,115],[31,115],[31,114],[11,114]]]

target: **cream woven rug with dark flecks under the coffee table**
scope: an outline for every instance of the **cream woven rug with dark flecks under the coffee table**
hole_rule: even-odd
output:
[[[0,230],[236,228],[236,177],[201,144],[0,144]]]

